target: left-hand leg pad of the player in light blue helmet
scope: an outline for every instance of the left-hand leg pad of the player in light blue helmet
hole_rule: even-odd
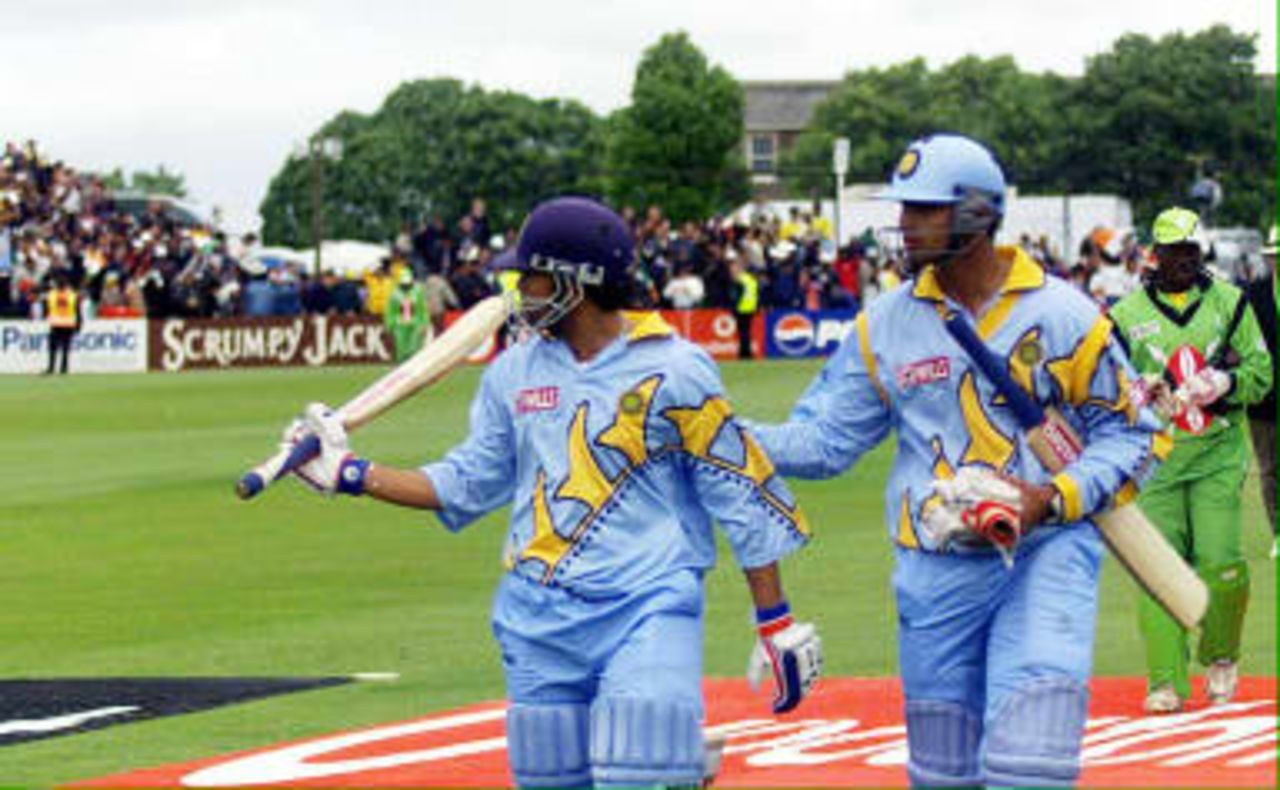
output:
[[[978,748],[982,718],[955,702],[914,699],[906,703],[906,775],[914,787],[982,785]]]

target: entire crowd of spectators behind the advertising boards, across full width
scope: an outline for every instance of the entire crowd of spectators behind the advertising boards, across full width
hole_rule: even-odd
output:
[[[759,309],[858,309],[902,275],[872,229],[837,247],[817,206],[685,223],[660,206],[621,213],[636,238],[637,307],[732,310],[741,294],[735,280],[748,271],[759,284]],[[50,160],[35,142],[8,143],[0,159],[0,316],[37,315],[40,293],[59,278],[79,288],[97,316],[379,315],[408,269],[439,320],[495,291],[488,264],[513,242],[515,230],[494,227],[476,198],[456,220],[406,225],[369,271],[314,273],[261,256],[253,236],[228,239],[180,222],[160,202],[123,210],[99,177]],[[1070,262],[1043,237],[1020,245],[1103,305],[1138,287],[1148,264],[1132,234],[1105,228]]]

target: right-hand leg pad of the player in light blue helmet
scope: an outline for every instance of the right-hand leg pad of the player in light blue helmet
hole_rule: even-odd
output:
[[[989,786],[1070,786],[1080,775],[1089,689],[1069,677],[1037,680],[1011,693],[987,726]]]

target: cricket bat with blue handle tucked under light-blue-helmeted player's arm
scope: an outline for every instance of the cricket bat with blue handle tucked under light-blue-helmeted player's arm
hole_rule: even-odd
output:
[[[951,312],[943,316],[943,323],[973,364],[1005,396],[1019,425],[1027,430],[1027,444],[1044,469],[1057,474],[1075,461],[1084,444],[1066,419],[1053,408],[1042,408],[1019,387],[1004,360],[987,348],[963,315]],[[1185,629],[1201,621],[1208,608],[1208,588],[1137,504],[1100,513],[1093,522],[1120,565],[1174,620]]]

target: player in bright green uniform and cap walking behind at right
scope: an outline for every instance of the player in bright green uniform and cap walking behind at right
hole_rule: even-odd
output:
[[[1156,218],[1155,270],[1111,309],[1156,412],[1170,420],[1174,449],[1138,503],[1204,579],[1210,609],[1197,659],[1212,703],[1235,694],[1249,567],[1240,551],[1240,493],[1249,466],[1244,407],[1271,388],[1271,356],[1239,288],[1203,266],[1199,216]],[[1139,603],[1151,713],[1181,709],[1190,695],[1188,634],[1149,597]]]

